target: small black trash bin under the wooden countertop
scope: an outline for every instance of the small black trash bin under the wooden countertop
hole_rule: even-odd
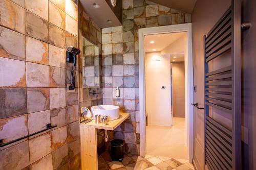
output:
[[[124,152],[124,141],[114,139],[111,141],[111,158],[114,161],[122,161]]]

